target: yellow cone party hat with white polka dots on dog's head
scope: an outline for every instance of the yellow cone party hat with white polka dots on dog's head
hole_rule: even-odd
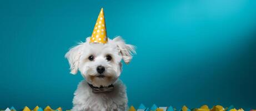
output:
[[[94,26],[90,43],[104,44],[107,42],[108,42],[108,38],[107,38],[106,24],[105,24],[104,12],[102,8],[101,12],[99,12],[97,22]]]

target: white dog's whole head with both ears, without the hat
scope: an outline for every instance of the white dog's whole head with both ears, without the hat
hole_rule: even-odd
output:
[[[129,63],[135,53],[134,46],[126,44],[121,37],[108,43],[85,43],[71,48],[65,57],[71,66],[71,73],[79,70],[88,83],[96,87],[106,87],[114,83],[121,75],[123,59]]]

